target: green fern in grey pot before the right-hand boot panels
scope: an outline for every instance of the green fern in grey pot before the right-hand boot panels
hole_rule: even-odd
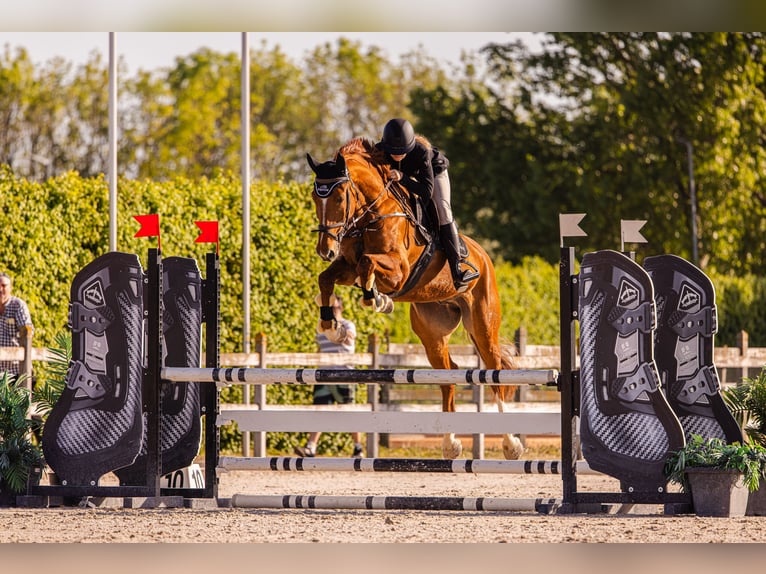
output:
[[[766,449],[757,444],[726,443],[693,434],[672,453],[665,476],[691,492],[700,516],[744,516],[748,493],[755,491],[766,469]]]

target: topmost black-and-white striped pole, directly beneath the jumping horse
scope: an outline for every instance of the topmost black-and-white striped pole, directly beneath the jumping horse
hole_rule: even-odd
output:
[[[231,384],[556,385],[555,369],[195,369],[164,367],[166,381]]]

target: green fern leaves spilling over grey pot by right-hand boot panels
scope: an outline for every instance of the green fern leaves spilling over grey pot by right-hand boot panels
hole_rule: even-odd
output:
[[[741,472],[745,485],[753,492],[758,490],[761,479],[766,478],[766,449],[757,444],[727,444],[719,438],[705,440],[693,434],[682,449],[668,457],[665,476],[689,492],[686,469],[697,467]]]

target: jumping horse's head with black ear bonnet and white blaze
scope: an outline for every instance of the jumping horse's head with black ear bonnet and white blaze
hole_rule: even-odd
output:
[[[346,231],[346,221],[350,214],[350,193],[346,189],[351,179],[346,169],[343,155],[336,159],[317,163],[311,154],[306,154],[309,167],[316,176],[314,200],[319,225],[316,252],[325,261],[332,261],[340,254],[340,242]]]

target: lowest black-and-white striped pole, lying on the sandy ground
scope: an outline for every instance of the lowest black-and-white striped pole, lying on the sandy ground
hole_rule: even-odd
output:
[[[234,508],[317,508],[327,510],[472,510],[550,513],[558,498],[484,498],[430,496],[321,496],[235,494]]]

